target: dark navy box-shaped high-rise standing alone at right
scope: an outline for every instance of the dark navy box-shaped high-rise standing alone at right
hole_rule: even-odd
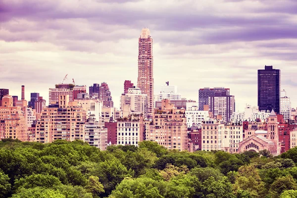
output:
[[[266,66],[258,70],[259,110],[280,113],[281,70]]]

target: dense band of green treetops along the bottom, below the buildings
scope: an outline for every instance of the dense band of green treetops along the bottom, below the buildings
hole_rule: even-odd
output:
[[[297,198],[297,148],[260,154],[4,139],[0,198]]]

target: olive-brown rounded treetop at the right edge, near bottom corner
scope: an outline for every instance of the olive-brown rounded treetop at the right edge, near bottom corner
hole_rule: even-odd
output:
[[[277,178],[270,186],[270,195],[278,198],[287,190],[297,190],[297,184],[291,175]]]

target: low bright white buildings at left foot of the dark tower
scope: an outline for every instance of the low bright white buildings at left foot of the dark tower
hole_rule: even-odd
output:
[[[255,122],[257,119],[260,119],[261,122],[264,122],[270,112],[259,111],[257,106],[246,105],[245,111],[233,112],[232,122],[243,124],[243,121]]]

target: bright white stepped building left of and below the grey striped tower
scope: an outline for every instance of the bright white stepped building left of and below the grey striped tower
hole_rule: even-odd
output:
[[[203,121],[209,120],[208,111],[199,111],[198,102],[187,102],[186,117],[187,127],[191,128],[194,125],[201,125]]]

